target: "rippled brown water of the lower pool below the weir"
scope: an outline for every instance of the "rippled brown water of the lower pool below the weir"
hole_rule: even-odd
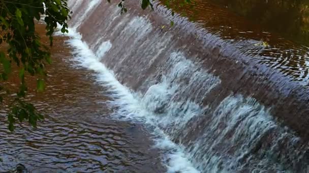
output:
[[[40,33],[43,27],[38,25]],[[163,172],[162,155],[152,149],[147,129],[111,119],[105,89],[94,84],[91,71],[73,68],[66,39],[54,39],[46,92],[27,97],[46,115],[38,128],[22,123],[9,132],[2,109],[0,171],[22,163],[30,172]],[[35,80],[28,81],[35,89]]]

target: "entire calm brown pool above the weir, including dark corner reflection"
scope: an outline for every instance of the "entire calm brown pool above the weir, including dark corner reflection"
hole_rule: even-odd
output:
[[[210,0],[194,2],[193,8],[178,7],[176,11],[189,16],[199,28],[205,28],[201,39],[209,41],[207,33],[217,35],[232,45],[221,45],[221,52],[232,52],[229,56],[265,64],[291,80],[308,85],[309,20],[306,16],[309,12],[305,1],[221,0],[219,5]]]

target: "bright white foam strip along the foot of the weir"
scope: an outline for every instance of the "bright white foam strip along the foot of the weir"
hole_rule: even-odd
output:
[[[68,42],[74,48],[74,60],[79,62],[79,65],[82,67],[94,70],[97,73],[97,82],[106,86],[108,93],[111,93],[110,96],[114,99],[109,103],[118,107],[115,115],[118,117],[123,116],[126,119],[140,120],[149,125],[156,125],[155,123],[152,123],[152,113],[145,109],[144,105],[140,102],[140,98],[115,79],[113,73],[100,62],[100,58],[97,57],[89,49],[87,44],[81,40],[81,35],[74,29],[69,29],[69,36],[71,36],[71,39]],[[102,45],[106,45],[108,48],[111,47],[109,41],[105,43],[103,42]],[[107,48],[103,49],[108,50]],[[97,54],[103,57],[105,52],[106,51],[100,51],[100,53]],[[147,115],[149,115],[149,118],[146,118]],[[165,155],[166,159],[164,160],[168,172],[199,172],[194,168],[188,158],[186,158],[183,149],[173,143],[163,131],[158,128],[158,126],[155,126],[153,133],[158,137],[155,147],[167,151],[167,154]]]

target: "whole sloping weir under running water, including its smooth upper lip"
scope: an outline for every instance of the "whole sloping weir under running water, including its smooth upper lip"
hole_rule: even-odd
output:
[[[69,1],[69,44],[110,89],[115,117],[145,122],[161,136],[157,147],[171,149],[168,171],[309,171],[308,76],[293,75],[307,71],[307,62],[287,71],[284,61],[306,57],[306,48],[278,48],[286,40],[276,36],[269,42],[281,42],[265,48],[251,32],[227,39],[214,27],[172,17],[160,2],[150,12],[128,1],[122,15],[115,3]],[[275,50],[281,59],[268,54]]]

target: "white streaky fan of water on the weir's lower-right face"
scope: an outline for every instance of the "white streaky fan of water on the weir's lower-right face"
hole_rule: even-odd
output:
[[[290,151],[297,146],[299,138],[278,125],[269,110],[251,97],[228,96],[215,108],[209,123],[202,136],[187,149],[192,158],[200,158],[199,162],[204,163],[197,164],[203,172],[248,170],[245,167],[248,163],[253,172],[280,171],[283,164],[291,164],[287,160],[300,158],[295,155],[296,150]],[[269,148],[259,150],[262,154],[256,156],[253,151],[271,134]],[[281,150],[286,152],[282,156],[277,154]]]

